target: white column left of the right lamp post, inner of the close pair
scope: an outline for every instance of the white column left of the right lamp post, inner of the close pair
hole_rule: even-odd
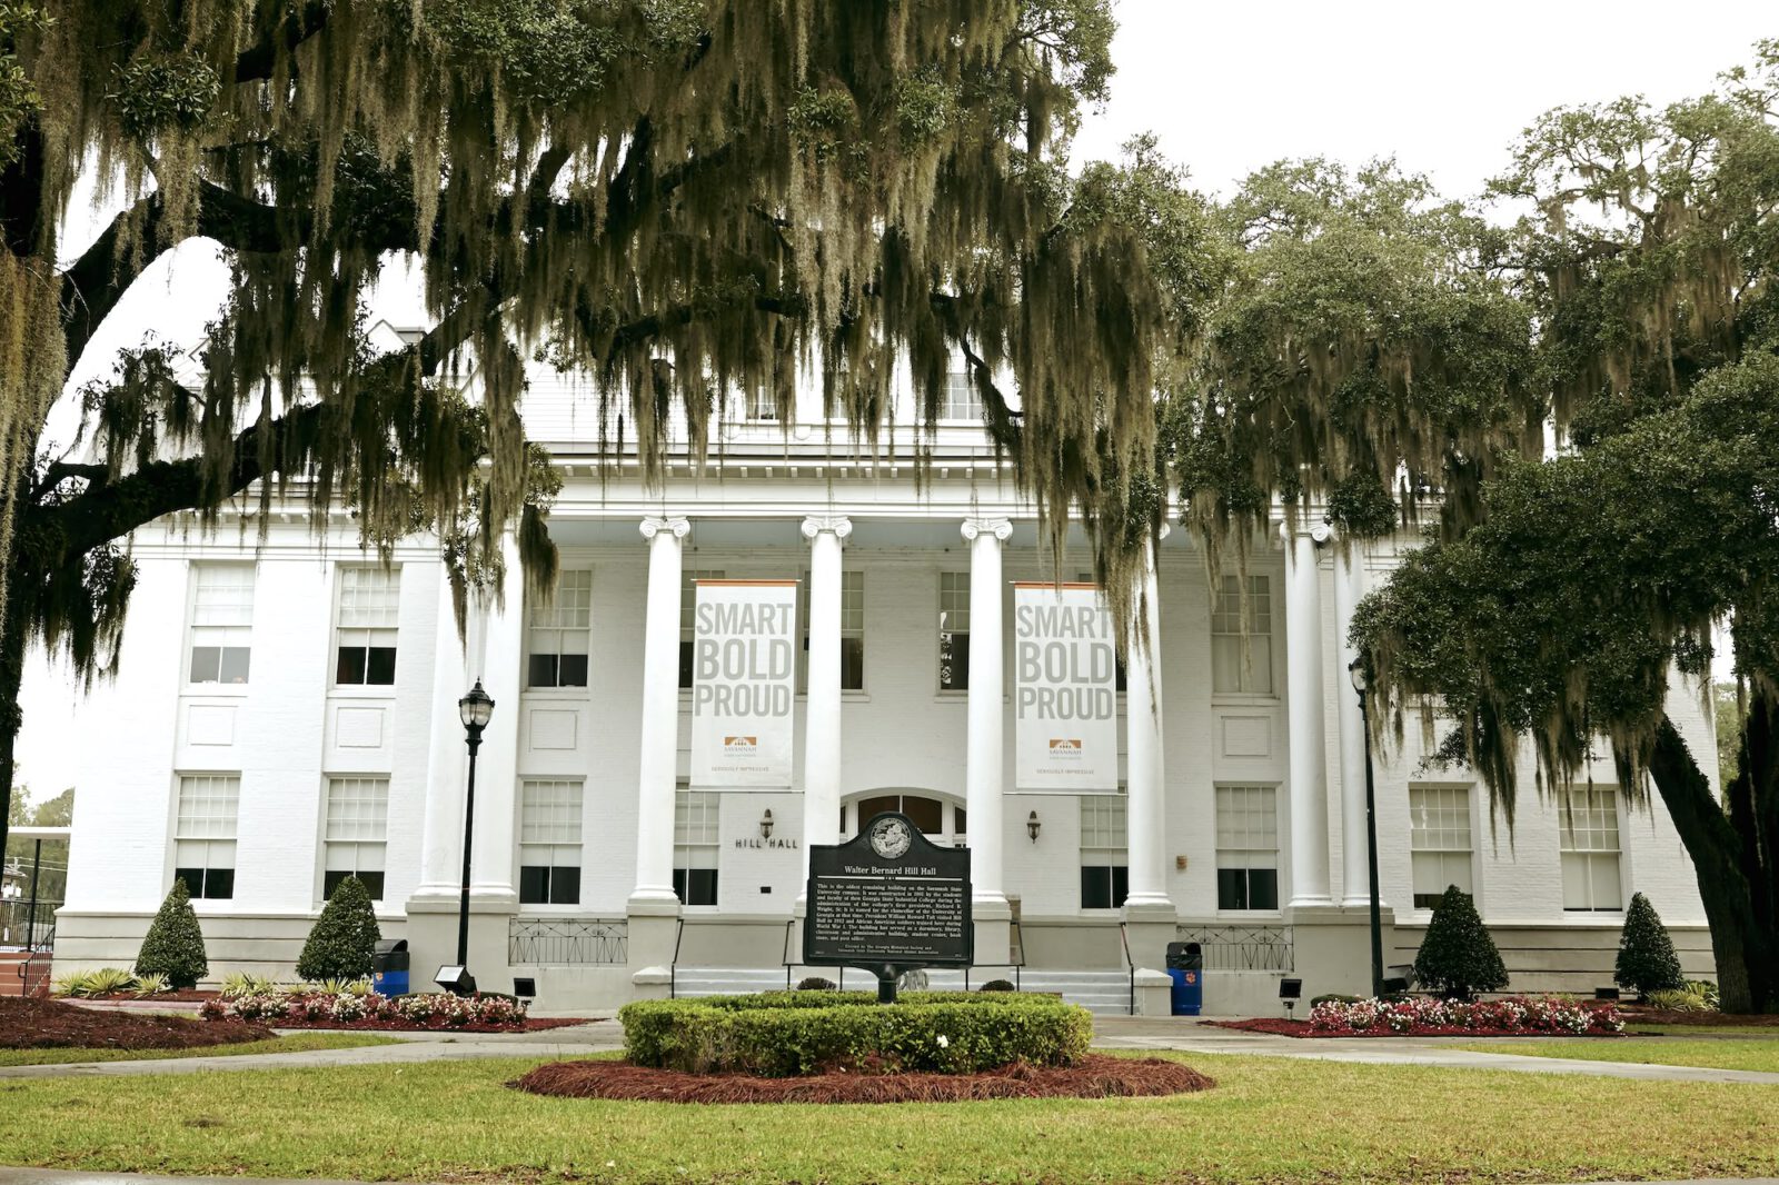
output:
[[[1322,735],[1322,578],[1316,544],[1329,530],[1283,528],[1286,546],[1286,728],[1292,753],[1292,907],[1327,906],[1327,747]],[[1320,534],[1320,539],[1316,537]]]

